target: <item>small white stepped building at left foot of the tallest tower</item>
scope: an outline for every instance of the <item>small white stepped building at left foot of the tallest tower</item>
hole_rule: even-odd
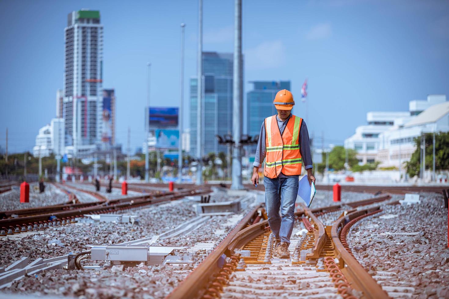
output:
[[[33,156],[48,157],[51,154],[64,153],[64,119],[53,118],[49,125],[39,129],[36,136],[36,145],[33,147]]]

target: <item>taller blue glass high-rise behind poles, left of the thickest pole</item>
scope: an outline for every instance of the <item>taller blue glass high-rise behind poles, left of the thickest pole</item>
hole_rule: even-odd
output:
[[[202,52],[203,153],[227,152],[215,135],[232,134],[233,54]],[[190,78],[190,154],[197,147],[197,78]]]

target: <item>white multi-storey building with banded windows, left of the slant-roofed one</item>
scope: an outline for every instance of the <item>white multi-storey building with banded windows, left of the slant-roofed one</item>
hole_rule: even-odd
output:
[[[399,160],[402,163],[409,160],[415,151],[413,138],[424,132],[415,121],[422,119],[426,109],[432,107],[429,111],[434,111],[435,105],[444,103],[446,95],[428,95],[427,100],[410,101],[408,112],[369,112],[366,117],[368,125],[357,127],[356,134],[344,141],[344,147],[357,151],[357,159],[361,165],[379,161],[380,167],[399,168]],[[431,116],[428,113],[424,115],[427,115],[426,121],[430,123],[439,117],[439,114],[433,113]],[[405,143],[409,146],[405,146]]]

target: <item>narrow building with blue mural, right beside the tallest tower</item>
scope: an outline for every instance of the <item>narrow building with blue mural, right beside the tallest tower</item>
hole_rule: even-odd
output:
[[[101,144],[104,150],[115,144],[115,93],[114,89],[103,89],[101,112]]]

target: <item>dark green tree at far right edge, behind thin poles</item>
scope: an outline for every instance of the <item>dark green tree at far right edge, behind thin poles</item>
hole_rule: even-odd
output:
[[[426,146],[426,169],[433,167],[433,134],[424,134]],[[419,175],[421,160],[421,137],[414,139],[416,150],[410,160],[405,163],[407,173],[410,177]],[[449,132],[435,134],[435,169],[449,169]]]

